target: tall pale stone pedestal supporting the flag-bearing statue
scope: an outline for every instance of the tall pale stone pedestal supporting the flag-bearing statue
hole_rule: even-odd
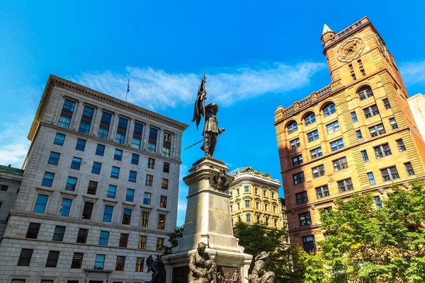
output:
[[[186,220],[179,246],[162,258],[166,283],[188,281],[189,256],[199,242],[207,246],[205,251],[215,260],[218,272],[232,270],[231,276],[237,270],[241,282],[246,282],[252,255],[244,253],[233,236],[228,190],[233,177],[225,174],[228,170],[222,161],[204,157],[193,163],[190,174],[183,178],[189,187]]]

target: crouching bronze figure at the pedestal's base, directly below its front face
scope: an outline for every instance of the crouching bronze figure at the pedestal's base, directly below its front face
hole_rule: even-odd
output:
[[[198,250],[189,260],[188,283],[211,283],[214,280],[215,262],[205,253],[205,243],[198,243]]]

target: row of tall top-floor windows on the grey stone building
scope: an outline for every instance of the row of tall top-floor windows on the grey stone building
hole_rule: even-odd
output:
[[[72,115],[74,114],[75,102],[73,100],[65,99],[64,105],[62,107],[62,111],[60,113],[59,122],[57,125],[64,129],[69,129],[71,124]],[[83,134],[89,134],[91,126],[94,121],[94,107],[90,107],[88,105],[84,106],[83,114],[81,115],[81,122],[79,125],[78,132]],[[101,122],[99,125],[97,137],[100,139],[108,139],[108,134],[111,130],[111,120],[112,113],[102,112]],[[144,125],[135,122],[135,127],[132,133],[131,138],[131,146],[134,149],[141,149],[142,146],[142,133],[143,133]],[[118,127],[115,133],[114,141],[117,144],[125,144],[125,136],[128,131],[128,119],[124,117],[119,117],[118,119]],[[149,138],[147,144],[147,151],[150,153],[155,153],[157,150],[157,139],[158,139],[159,129],[155,129],[154,127],[149,127]],[[164,140],[162,144],[162,156],[171,157],[171,141],[172,134],[168,132],[164,132]]]

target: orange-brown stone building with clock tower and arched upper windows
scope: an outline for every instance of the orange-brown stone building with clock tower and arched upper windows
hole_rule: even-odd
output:
[[[424,141],[385,41],[368,18],[321,37],[331,84],[275,112],[290,242],[314,250],[337,197],[425,175]]]

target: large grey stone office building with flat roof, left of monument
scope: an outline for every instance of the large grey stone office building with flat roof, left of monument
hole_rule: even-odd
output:
[[[186,127],[50,76],[0,243],[0,281],[149,280],[147,257],[176,227]]]

